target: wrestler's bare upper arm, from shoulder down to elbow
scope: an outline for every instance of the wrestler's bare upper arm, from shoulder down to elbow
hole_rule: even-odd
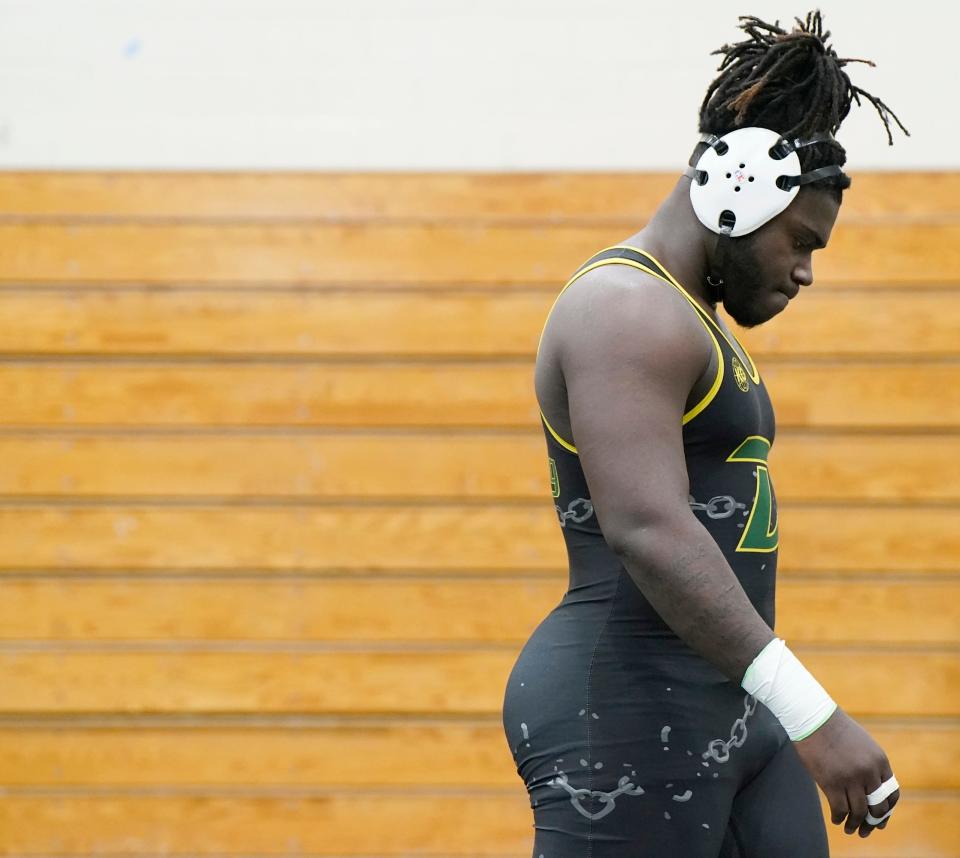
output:
[[[689,515],[683,414],[709,352],[695,311],[663,289],[643,284],[595,311],[565,355],[574,441],[614,546]]]

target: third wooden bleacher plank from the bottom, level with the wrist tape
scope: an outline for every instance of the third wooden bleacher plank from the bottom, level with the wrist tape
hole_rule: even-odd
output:
[[[10,645],[0,651],[0,713],[491,714],[517,656],[512,645],[339,646]],[[960,716],[955,649],[800,645],[796,652],[854,717],[907,717],[918,700],[927,717]]]

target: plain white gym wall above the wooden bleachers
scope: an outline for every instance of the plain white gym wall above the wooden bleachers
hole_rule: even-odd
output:
[[[739,7],[739,8],[738,8]],[[0,168],[673,170],[738,14],[640,0],[0,0]],[[848,168],[955,169],[956,4],[820,7]],[[949,61],[949,62],[948,62]]]

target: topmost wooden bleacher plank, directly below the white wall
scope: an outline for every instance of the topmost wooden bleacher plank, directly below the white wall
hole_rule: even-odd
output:
[[[692,148],[692,147],[691,147]],[[682,171],[7,172],[7,217],[646,221]],[[960,216],[955,171],[854,172],[840,224]],[[638,224],[639,225],[639,224]]]

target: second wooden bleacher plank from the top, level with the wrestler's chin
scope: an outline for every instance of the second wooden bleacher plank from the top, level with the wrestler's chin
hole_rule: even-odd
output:
[[[610,226],[0,223],[0,282],[563,283],[626,240]],[[960,222],[837,229],[815,277],[960,279]]]

